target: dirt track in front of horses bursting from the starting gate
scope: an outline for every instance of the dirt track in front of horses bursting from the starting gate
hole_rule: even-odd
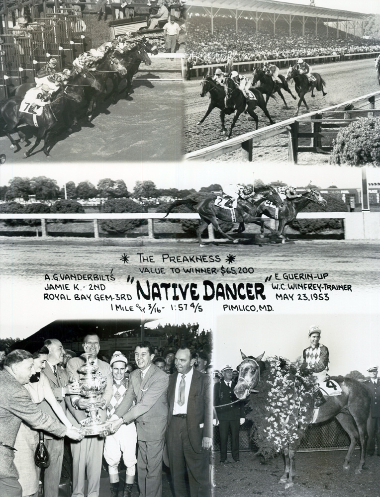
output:
[[[157,68],[167,65],[169,73]],[[73,132],[65,132],[56,138],[51,158],[42,152],[43,143],[32,156],[24,159],[24,144],[13,153],[6,136],[0,136],[0,152],[7,162],[95,162],[95,161],[179,161],[182,157],[182,81],[147,81],[154,79],[181,79],[181,61],[176,59],[152,60],[149,72],[138,72],[133,80],[133,90],[128,99],[120,99],[116,105],[110,101],[102,106],[100,113],[89,125],[81,122]],[[34,130],[29,128],[27,136]],[[18,139],[17,135],[13,135]],[[31,146],[31,145],[30,145]],[[30,148],[29,146],[29,148]]]

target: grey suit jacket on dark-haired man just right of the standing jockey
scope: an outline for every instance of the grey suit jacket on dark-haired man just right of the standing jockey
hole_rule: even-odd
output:
[[[136,419],[137,438],[144,442],[161,440],[165,436],[168,419],[169,376],[151,364],[141,383],[141,370],[135,369],[129,375],[127,393],[115,414],[126,423]],[[133,401],[136,405],[132,407]]]

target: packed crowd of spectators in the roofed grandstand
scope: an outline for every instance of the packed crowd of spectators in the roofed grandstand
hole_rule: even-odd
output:
[[[225,64],[227,58],[233,61],[246,62],[255,60],[297,59],[298,57],[315,57],[326,55],[343,55],[348,53],[380,51],[380,40],[367,40],[358,36],[340,32],[336,37],[336,29],[326,33],[321,26],[315,35],[315,28],[306,27],[302,36],[302,27],[295,22],[292,33],[285,24],[276,24],[276,35],[273,24],[263,22],[256,33],[253,20],[239,19],[236,32],[235,19],[215,16],[213,34],[209,16],[189,16],[187,20],[187,53],[188,61],[193,66],[207,64]]]

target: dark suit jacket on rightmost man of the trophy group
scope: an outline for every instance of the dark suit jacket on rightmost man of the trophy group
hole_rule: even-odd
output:
[[[169,376],[169,429],[173,416],[177,376],[177,372]],[[192,449],[197,453],[202,452],[202,437],[212,438],[211,377],[195,369],[192,372],[186,423]],[[200,427],[201,424],[203,427]]]

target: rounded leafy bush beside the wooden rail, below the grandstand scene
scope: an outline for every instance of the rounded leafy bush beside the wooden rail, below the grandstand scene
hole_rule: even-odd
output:
[[[365,117],[339,130],[330,164],[380,166],[380,117]]]

